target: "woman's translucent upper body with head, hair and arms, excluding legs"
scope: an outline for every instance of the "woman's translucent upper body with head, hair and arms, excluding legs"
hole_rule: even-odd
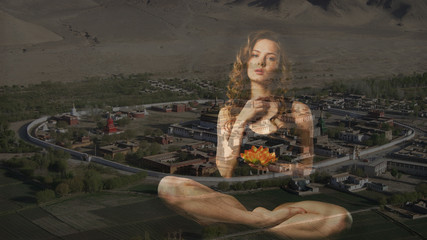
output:
[[[301,164],[270,168],[308,175],[313,155],[313,120],[310,108],[283,97],[288,67],[277,36],[269,31],[249,35],[248,42],[237,55],[230,74],[226,107],[218,115],[217,167],[223,177],[231,177],[244,133],[258,135],[276,133],[279,129],[295,129],[300,148],[306,152]],[[279,97],[278,97],[279,96]],[[304,171],[305,170],[305,171]]]

